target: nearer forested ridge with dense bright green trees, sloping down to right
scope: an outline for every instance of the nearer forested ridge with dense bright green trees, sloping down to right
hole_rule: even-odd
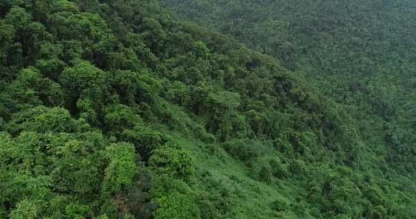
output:
[[[0,218],[415,218],[411,102],[291,63],[155,1],[1,1]]]

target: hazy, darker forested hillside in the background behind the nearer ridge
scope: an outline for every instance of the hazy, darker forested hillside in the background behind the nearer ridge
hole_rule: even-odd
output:
[[[361,135],[415,180],[414,1],[161,0],[231,34],[355,109]]]

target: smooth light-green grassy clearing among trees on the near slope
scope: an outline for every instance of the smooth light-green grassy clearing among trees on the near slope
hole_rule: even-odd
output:
[[[252,179],[246,164],[231,157],[218,144],[205,144],[180,133],[172,133],[172,136],[194,157],[197,175],[200,176],[194,185],[198,190],[223,189],[231,192],[227,194],[227,201],[233,202],[235,206],[225,214],[225,218],[272,218],[276,213],[271,209],[274,201],[296,203],[296,197],[306,194],[296,182],[273,179],[271,183],[263,183]],[[209,177],[202,177],[203,175]],[[221,186],[206,187],[213,181]],[[292,213],[285,216],[296,215]]]

